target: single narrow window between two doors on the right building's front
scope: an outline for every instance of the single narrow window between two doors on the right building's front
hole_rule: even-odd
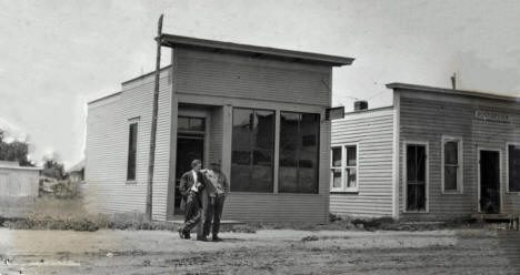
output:
[[[462,193],[462,140],[443,138],[442,155],[442,191]]]

